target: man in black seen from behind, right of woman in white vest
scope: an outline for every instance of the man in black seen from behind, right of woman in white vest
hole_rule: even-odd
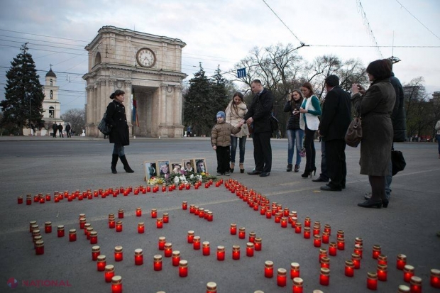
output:
[[[350,94],[339,87],[339,77],[336,75],[326,77],[325,87],[327,94],[319,123],[319,135],[325,142],[330,182],[321,187],[321,190],[340,192],[346,184],[344,138],[351,121],[351,101]]]

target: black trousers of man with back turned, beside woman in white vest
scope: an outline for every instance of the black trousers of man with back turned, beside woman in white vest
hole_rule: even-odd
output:
[[[329,186],[341,188],[346,184],[346,142],[343,139],[325,142],[327,171],[329,172]]]

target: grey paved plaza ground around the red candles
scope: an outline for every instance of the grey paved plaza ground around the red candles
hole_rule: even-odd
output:
[[[17,197],[26,194],[52,194],[65,190],[80,192],[92,189],[145,186],[143,161],[206,158],[209,172],[215,174],[216,157],[207,138],[131,140],[126,156],[135,173],[123,172],[119,162],[117,175],[110,172],[111,150],[107,140],[97,138],[47,138],[0,137],[0,275],[1,292],[111,292],[111,285],[104,281],[104,272],[97,271],[92,261],[92,246],[79,230],[79,214],[86,214],[87,222],[98,232],[101,254],[106,263],[115,266],[121,275],[123,292],[155,293],[164,291],[206,292],[207,282],[216,282],[219,293],[292,292],[290,263],[300,265],[300,277],[304,280],[304,292],[320,289],[323,292],[370,292],[366,288],[367,272],[375,272],[377,260],[372,258],[373,245],[380,245],[387,255],[387,281],[378,282],[378,292],[397,292],[403,282],[403,272],[396,269],[397,254],[407,255],[407,264],[413,265],[415,275],[422,278],[423,292],[440,292],[429,285],[430,270],[440,269],[439,180],[440,160],[434,143],[395,143],[402,150],[407,167],[392,181],[392,197],[387,209],[362,209],[357,204],[370,191],[368,177],[359,175],[359,148],[346,148],[347,182],[342,192],[321,192],[321,184],[312,182],[319,176],[321,161],[319,142],[317,148],[317,175],[303,179],[300,173],[285,172],[287,165],[287,140],[272,140],[273,169],[270,177],[258,177],[233,172],[233,179],[248,189],[277,202],[283,208],[297,211],[298,221],[309,217],[331,226],[330,241],[336,241],[336,231],[343,230],[345,250],[330,256],[330,284],[319,284],[319,248],[313,244],[313,236],[304,239],[290,225],[281,228],[274,218],[266,219],[258,211],[239,199],[222,185],[204,184],[199,189],[175,190],[163,193],[147,193],[124,197],[67,199],[55,203],[53,197],[45,204],[31,206],[17,204]],[[237,152],[238,156],[238,152]],[[253,145],[246,143],[246,171],[253,168]],[[304,170],[304,162],[301,171]],[[182,201],[209,209],[214,221],[209,222],[181,208]],[[135,211],[141,207],[143,215]],[[108,214],[125,211],[123,231],[116,233],[108,227]],[[162,229],[155,226],[150,210],[158,209],[161,216],[169,213],[170,222]],[[45,244],[44,255],[35,255],[29,221],[37,221],[42,229]],[[44,233],[45,221],[51,221],[52,233]],[[137,233],[138,222],[145,223],[145,233]],[[229,233],[231,223],[246,228],[246,239]],[[57,237],[57,226],[65,226],[65,237]],[[313,225],[312,225],[313,226]],[[77,229],[77,241],[70,242],[69,229]],[[187,231],[194,231],[201,241],[209,241],[211,254],[202,255],[187,243]],[[246,256],[248,232],[255,231],[262,238],[263,249],[253,257]],[[188,261],[188,277],[179,277],[179,270],[172,266],[171,258],[163,258],[163,270],[153,270],[153,256],[163,255],[158,250],[158,238],[165,236],[173,250],[180,250],[182,260]],[[354,277],[344,275],[344,263],[351,259],[355,238],[363,239],[361,268]],[[123,261],[114,261],[114,247],[123,246]],[[226,260],[216,260],[216,247],[224,245]],[[240,260],[232,260],[232,245],[240,245]],[[134,250],[143,249],[144,264],[134,265]],[[321,248],[329,248],[328,244]],[[274,262],[275,276],[264,277],[266,260]],[[287,270],[287,286],[278,287],[277,268]],[[15,289],[8,287],[8,280],[15,279]],[[40,287],[32,286],[38,284]],[[50,281],[50,282],[45,282]],[[58,285],[68,286],[55,286]],[[61,282],[62,281],[62,282]],[[26,284],[29,286],[27,287]],[[45,286],[48,285],[48,286]],[[409,284],[408,284],[409,285]],[[13,284],[11,284],[13,286]]]

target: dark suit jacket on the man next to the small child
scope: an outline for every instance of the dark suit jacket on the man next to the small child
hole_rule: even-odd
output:
[[[273,95],[268,89],[263,89],[261,94],[253,96],[252,104],[248,113],[244,116],[244,120],[253,118],[253,132],[272,131],[270,128],[270,113],[273,106]]]

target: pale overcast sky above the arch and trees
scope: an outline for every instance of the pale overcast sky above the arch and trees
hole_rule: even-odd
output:
[[[42,84],[53,65],[62,113],[83,108],[84,46],[102,26],[184,41],[182,71],[188,79],[199,62],[209,75],[217,65],[226,72],[253,47],[277,43],[309,45],[299,50],[309,61],[333,54],[360,58],[366,66],[381,58],[374,35],[383,57],[402,60],[394,67],[402,83],[422,76],[428,92],[440,91],[439,0],[1,0],[0,87],[20,46],[29,42]]]

